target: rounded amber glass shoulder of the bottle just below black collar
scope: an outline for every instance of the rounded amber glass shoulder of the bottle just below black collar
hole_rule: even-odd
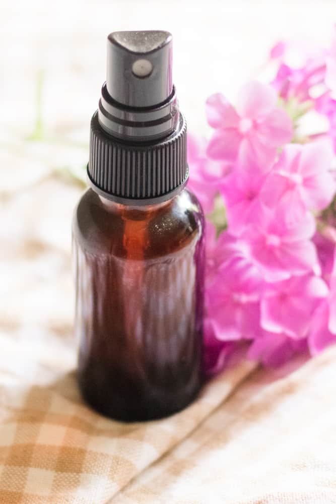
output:
[[[74,213],[73,234],[82,249],[129,259],[149,259],[194,246],[203,236],[204,215],[186,188],[172,200],[150,207],[108,204],[92,189]]]

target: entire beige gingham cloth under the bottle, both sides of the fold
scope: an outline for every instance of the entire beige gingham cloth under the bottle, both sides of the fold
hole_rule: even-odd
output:
[[[81,402],[74,372],[50,383],[46,351],[36,375],[6,372],[19,343],[0,341],[2,504],[336,502],[336,348],[287,376],[232,364],[183,412],[124,424]]]

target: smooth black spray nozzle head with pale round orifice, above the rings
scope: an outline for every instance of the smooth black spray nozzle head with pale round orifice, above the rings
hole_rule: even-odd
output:
[[[153,107],[171,95],[172,36],[166,31],[124,31],[108,36],[106,88],[128,107]]]

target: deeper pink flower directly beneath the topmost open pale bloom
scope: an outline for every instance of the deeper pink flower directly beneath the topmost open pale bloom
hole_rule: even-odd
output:
[[[260,169],[252,159],[245,159],[220,184],[231,234],[241,234],[262,211],[259,193],[264,180],[265,169]]]

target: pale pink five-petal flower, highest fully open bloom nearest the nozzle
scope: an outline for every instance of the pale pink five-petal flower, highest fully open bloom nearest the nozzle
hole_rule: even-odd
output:
[[[241,88],[237,110],[223,95],[211,96],[207,115],[215,134],[208,146],[209,156],[234,164],[247,148],[260,165],[272,162],[277,148],[292,138],[292,122],[276,103],[275,91],[259,82]]]

